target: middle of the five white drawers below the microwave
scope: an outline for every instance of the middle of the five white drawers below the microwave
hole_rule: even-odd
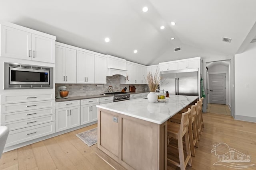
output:
[[[36,109],[30,111],[19,111],[14,113],[1,114],[1,123],[6,123],[10,121],[18,121],[28,118],[34,118],[38,116],[51,115],[55,113],[55,108],[50,107],[46,109]]]

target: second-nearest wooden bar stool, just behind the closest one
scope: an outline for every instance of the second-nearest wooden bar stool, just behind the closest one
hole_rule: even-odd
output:
[[[195,147],[198,148],[198,139],[197,139],[197,130],[198,129],[198,123],[197,123],[197,103],[190,106],[190,119],[189,119],[189,125],[188,125],[188,135],[189,135],[189,142],[190,142],[190,150],[191,155],[196,156]],[[176,115],[172,116],[169,120],[172,122],[180,123],[181,122],[182,113],[177,113]]]

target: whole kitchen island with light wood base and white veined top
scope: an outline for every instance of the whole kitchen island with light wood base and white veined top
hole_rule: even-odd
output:
[[[170,95],[166,102],[140,98],[97,105],[97,153],[116,169],[166,170],[167,120],[197,99]]]

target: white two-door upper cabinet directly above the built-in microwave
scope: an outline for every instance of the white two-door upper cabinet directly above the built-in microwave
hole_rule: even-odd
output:
[[[54,46],[56,37],[49,35],[52,38],[48,38],[38,35],[40,33],[38,31],[36,31],[38,34],[30,33],[30,29],[17,26],[26,29],[26,31],[1,25],[1,57],[47,63],[55,62]],[[45,33],[42,34],[46,35]]]

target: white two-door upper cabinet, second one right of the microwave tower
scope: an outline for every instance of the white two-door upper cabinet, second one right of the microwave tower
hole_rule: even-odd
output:
[[[76,83],[94,83],[94,54],[76,51]]]

